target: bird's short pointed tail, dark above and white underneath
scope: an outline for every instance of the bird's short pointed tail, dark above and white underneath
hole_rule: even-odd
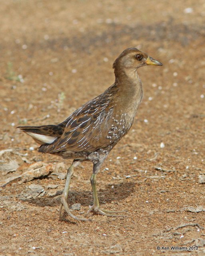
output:
[[[41,126],[18,126],[20,131],[31,136],[37,143],[52,144],[54,140],[59,138],[64,131],[61,124],[57,125],[41,125]]]

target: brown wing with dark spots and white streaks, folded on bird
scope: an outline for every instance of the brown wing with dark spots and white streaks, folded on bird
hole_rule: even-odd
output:
[[[106,100],[105,100],[106,99]],[[42,145],[41,152],[55,153],[64,150],[72,152],[93,152],[110,144],[107,131],[111,128],[113,106],[109,97],[97,97],[71,114],[63,123],[64,133],[54,144]]]

